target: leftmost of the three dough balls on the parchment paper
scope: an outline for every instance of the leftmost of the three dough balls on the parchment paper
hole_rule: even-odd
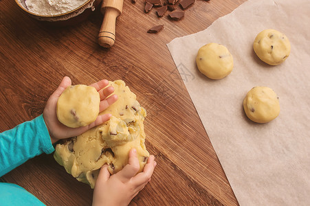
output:
[[[198,50],[196,63],[199,71],[213,80],[228,76],[234,67],[232,54],[223,45],[209,43]]]

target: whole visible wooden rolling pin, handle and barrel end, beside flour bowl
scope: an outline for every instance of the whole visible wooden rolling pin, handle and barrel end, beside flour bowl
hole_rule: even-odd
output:
[[[116,18],[122,13],[124,0],[103,0],[101,12],[104,14],[103,22],[98,34],[98,43],[102,47],[112,47],[115,42]]]

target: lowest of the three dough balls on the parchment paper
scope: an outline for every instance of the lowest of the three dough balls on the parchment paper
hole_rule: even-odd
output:
[[[269,87],[254,87],[243,100],[245,114],[253,122],[267,123],[278,117],[278,96]]]

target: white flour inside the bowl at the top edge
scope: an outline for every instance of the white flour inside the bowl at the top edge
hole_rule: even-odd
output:
[[[27,10],[39,15],[64,14],[78,8],[87,0],[25,0]]]

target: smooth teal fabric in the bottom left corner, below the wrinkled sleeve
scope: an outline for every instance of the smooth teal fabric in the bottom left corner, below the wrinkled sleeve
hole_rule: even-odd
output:
[[[1,206],[23,205],[38,206],[44,205],[33,194],[27,192],[19,185],[11,183],[0,183],[0,200]]]

